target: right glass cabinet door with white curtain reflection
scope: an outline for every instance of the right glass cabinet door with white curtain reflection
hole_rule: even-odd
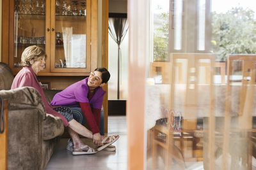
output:
[[[86,0],[51,1],[51,71],[89,72],[90,37]],[[55,46],[55,48],[54,48]]]

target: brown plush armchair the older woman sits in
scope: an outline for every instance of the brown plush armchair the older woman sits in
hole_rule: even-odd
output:
[[[45,113],[33,87],[10,90],[13,74],[0,62],[0,97],[8,99],[8,169],[45,169],[64,126]]]

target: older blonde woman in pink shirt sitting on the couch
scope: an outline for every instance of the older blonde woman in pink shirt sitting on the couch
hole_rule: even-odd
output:
[[[74,118],[72,117],[72,113],[70,114],[67,111],[57,112],[53,110],[53,108],[56,107],[50,106],[49,103],[47,103],[40,80],[38,79],[38,76],[36,76],[38,72],[44,69],[46,57],[47,55],[45,54],[44,50],[42,50],[42,48],[40,48],[39,46],[27,47],[21,56],[21,65],[23,66],[23,68],[15,76],[12,83],[12,89],[18,87],[34,87],[36,90],[38,90],[42,97],[46,113],[54,115],[55,117],[60,117],[65,127],[67,127],[68,129],[72,129],[72,131],[76,132],[77,134],[80,134],[86,138],[93,139],[92,132],[86,129],[86,127],[84,127],[83,125],[79,124],[79,122],[74,120]],[[100,147],[100,150],[114,143],[117,138],[118,136],[113,136],[113,138],[109,138],[109,140],[104,144],[100,144],[103,145]],[[81,140],[73,142],[73,155],[92,154],[98,152],[98,150],[95,150],[90,146],[85,145]]]

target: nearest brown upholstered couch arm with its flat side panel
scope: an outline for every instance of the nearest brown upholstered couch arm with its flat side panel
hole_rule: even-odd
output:
[[[45,108],[32,87],[0,90],[8,99],[8,169],[39,169]]]

